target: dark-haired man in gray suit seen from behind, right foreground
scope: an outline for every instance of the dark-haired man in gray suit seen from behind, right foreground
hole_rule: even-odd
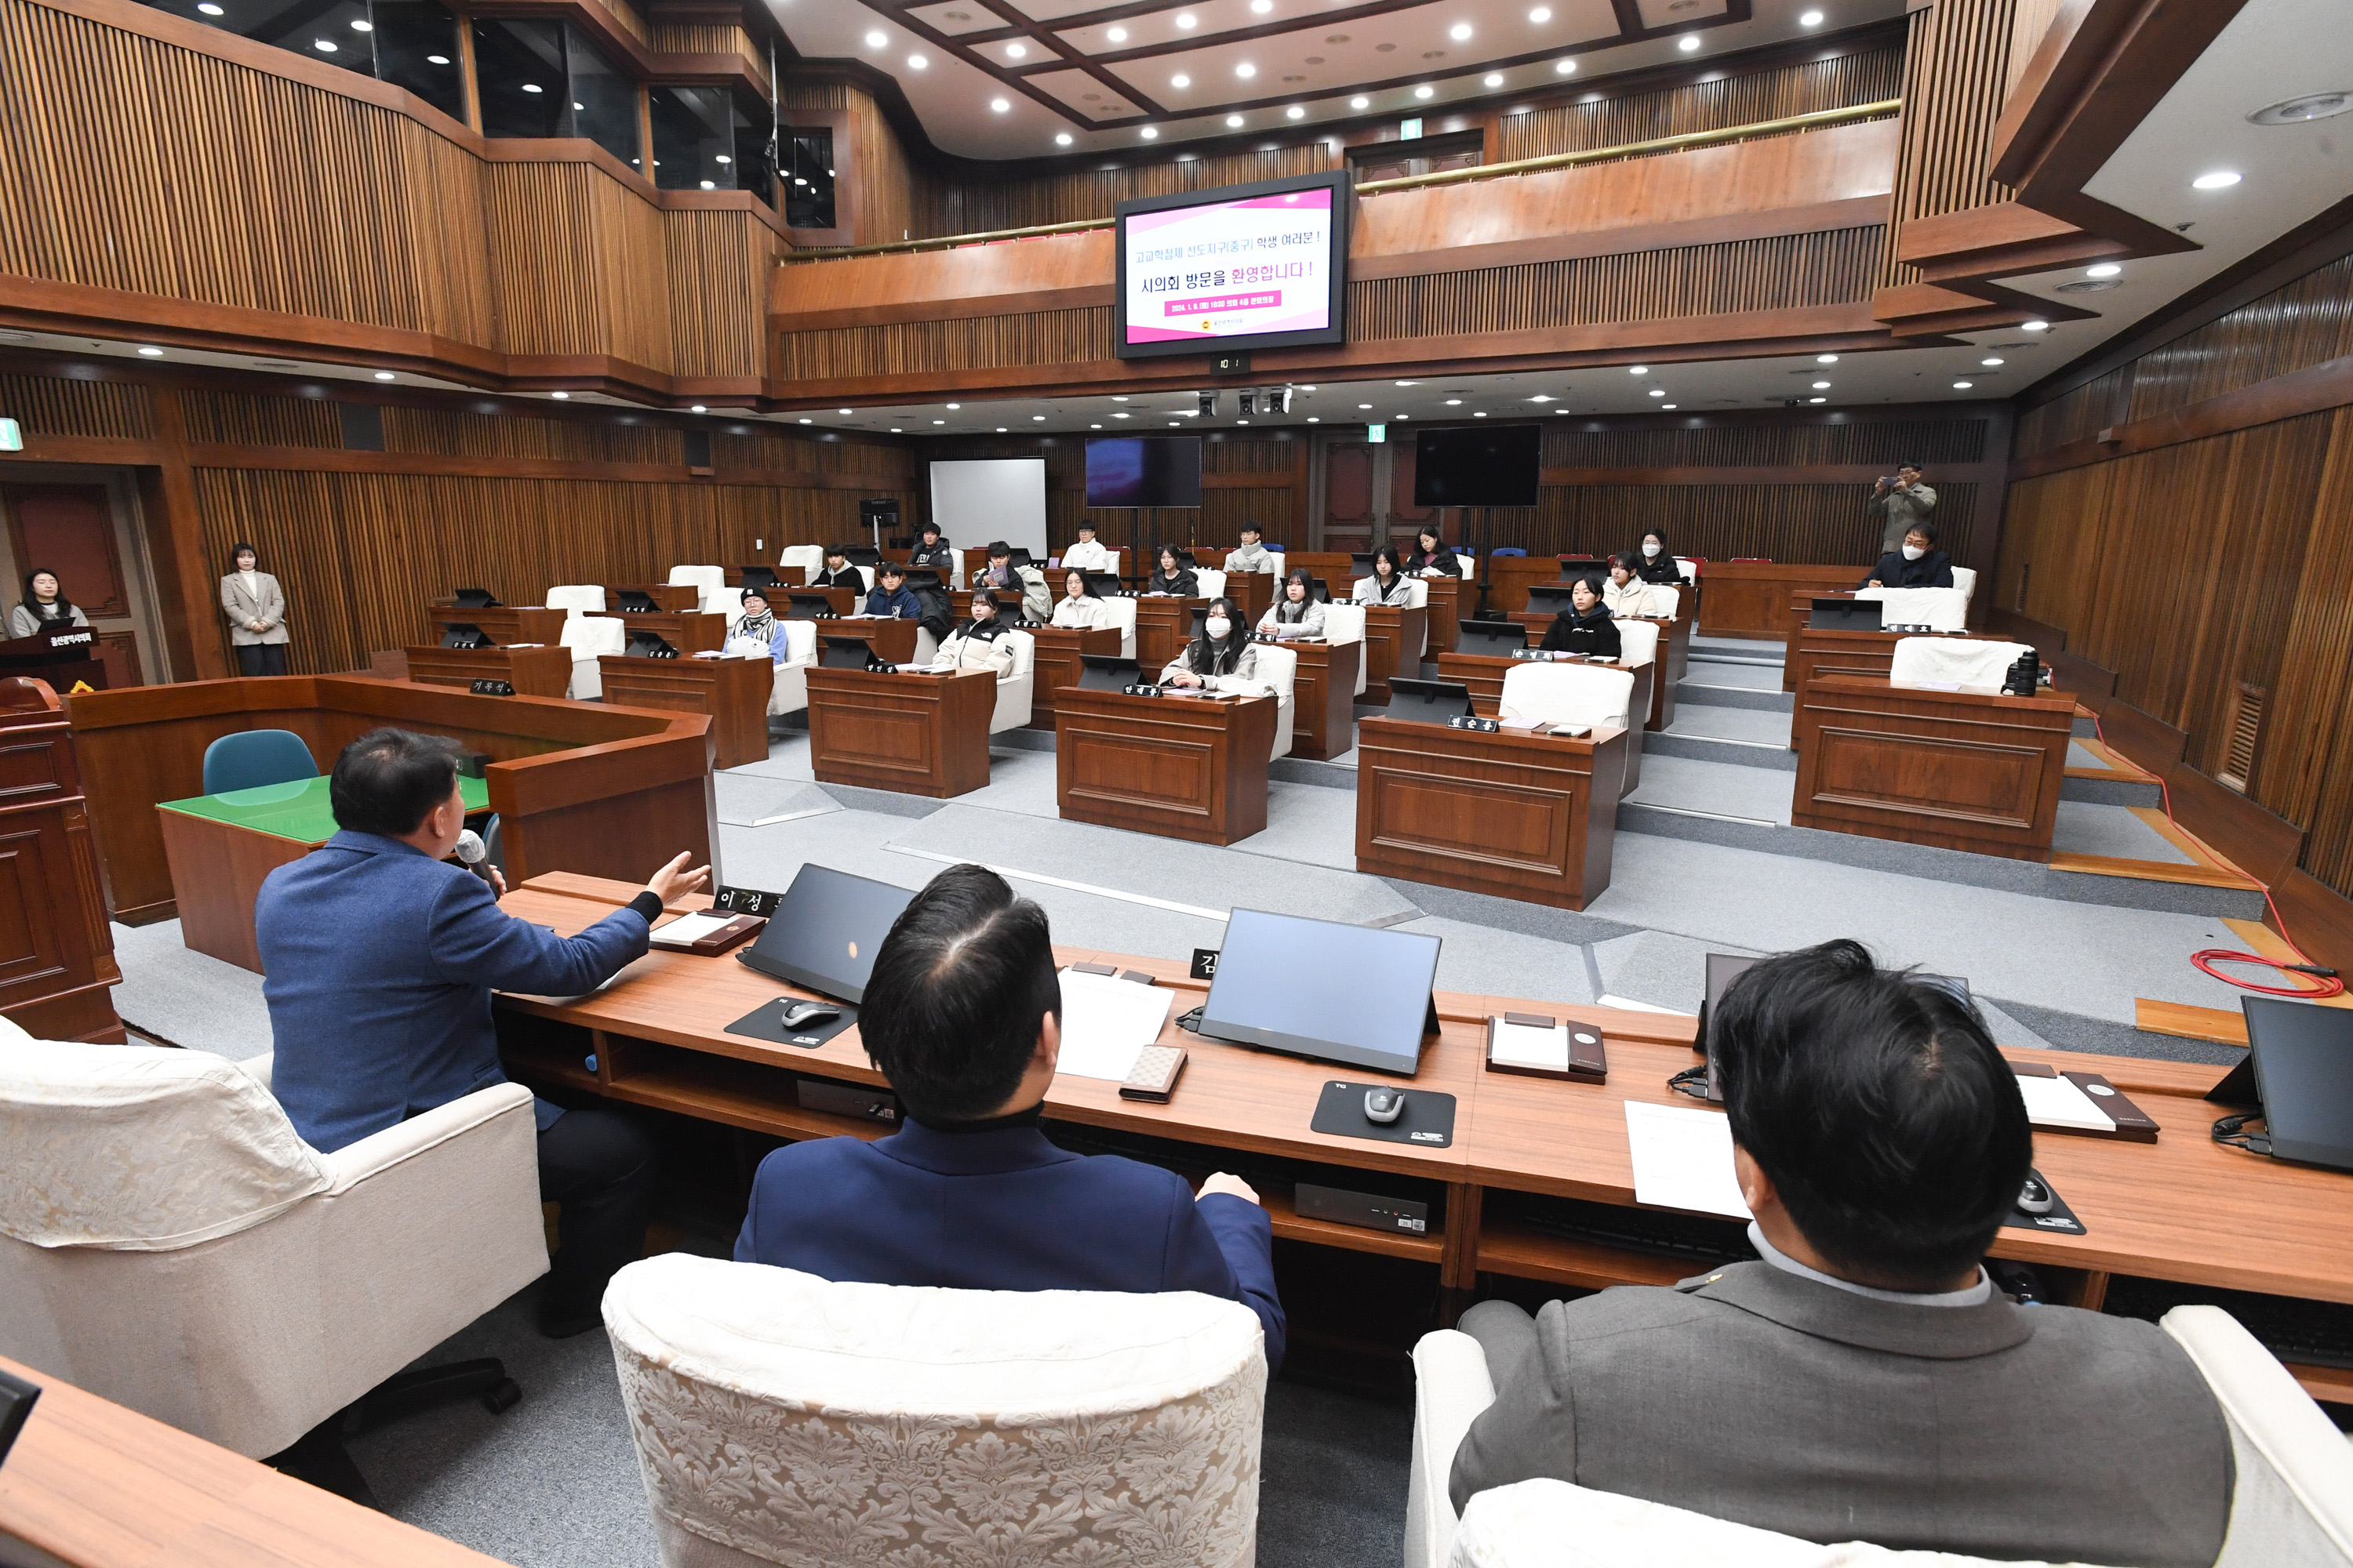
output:
[[[2195,1363],[1979,1262],[2033,1131],[1977,1009],[1840,940],[1744,973],[1711,1044],[1758,1262],[1466,1312],[1497,1401],[1454,1507],[1555,1476],[1824,1544],[2207,1568],[2231,1436]]]

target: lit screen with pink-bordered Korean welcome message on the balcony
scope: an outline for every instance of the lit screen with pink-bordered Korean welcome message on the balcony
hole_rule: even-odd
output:
[[[1115,207],[1122,360],[1346,343],[1346,174]]]

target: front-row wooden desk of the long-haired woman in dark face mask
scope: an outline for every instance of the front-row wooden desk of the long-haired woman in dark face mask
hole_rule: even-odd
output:
[[[1271,696],[1071,686],[1054,703],[1054,804],[1068,823],[1233,844],[1266,827],[1273,752]]]

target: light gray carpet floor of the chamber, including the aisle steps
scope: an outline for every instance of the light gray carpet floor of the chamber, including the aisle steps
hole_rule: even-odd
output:
[[[1713,642],[1699,654],[1769,658],[1779,644]],[[1713,693],[1722,693],[1711,701]],[[1675,736],[1786,748],[1788,712],[1769,663],[1694,658]],[[1718,759],[1645,755],[1638,804],[1722,813],[1788,837],[1793,776]],[[1353,764],[1353,755],[1341,759]],[[1760,755],[1762,764],[1765,757]],[[1325,773],[1329,778],[1329,773]],[[736,886],[784,889],[805,863],[922,886],[953,860],[1000,867],[1035,898],[1056,940],[1181,959],[1214,947],[1233,907],[1278,910],[1440,938],[1442,990],[1694,1011],[1708,952],[1774,952],[1861,936],[1887,964],[1962,976],[2009,1046],[2233,1060],[2226,1046],[2141,1034],[2139,997],[2233,1009],[2240,992],[2188,964],[2235,945],[2205,914],[2042,898],[1769,849],[1619,827],[1612,884],[1584,912],[1367,877],[1355,860],[1355,792],[1275,780],[1268,825],[1231,849],[1064,823],[1054,755],[993,750],[988,788],[953,802],[816,785],[805,733],[765,762],[718,776],[720,863]],[[1699,820],[1659,818],[1649,820]],[[2179,860],[2120,806],[2061,804],[2061,846]],[[188,952],[179,926],[115,929],[118,1011],[181,1046],[254,1056],[271,1044],[261,978]],[[355,1441],[388,1507],[513,1563],[652,1563],[635,1455],[621,1425],[602,1333],[551,1345],[532,1331],[532,1291],[487,1314],[431,1361],[496,1354],[525,1401],[416,1415]],[[1400,1403],[1278,1382],[1266,1408],[1261,1563],[1395,1563],[1405,1523],[1409,1413]]]

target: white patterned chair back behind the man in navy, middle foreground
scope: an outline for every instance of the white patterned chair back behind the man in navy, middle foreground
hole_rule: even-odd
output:
[[[1198,1293],[831,1284],[666,1253],[605,1293],[664,1568],[1247,1568],[1266,1349]]]

